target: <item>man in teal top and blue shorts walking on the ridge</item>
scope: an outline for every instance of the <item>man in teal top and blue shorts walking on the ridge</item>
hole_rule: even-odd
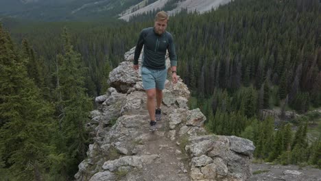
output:
[[[139,35],[134,54],[134,70],[139,69],[139,55],[144,45],[143,64],[141,67],[141,77],[143,87],[147,93],[147,110],[150,114],[150,130],[157,130],[156,121],[161,119],[160,105],[163,99],[163,89],[167,77],[165,66],[166,50],[169,52],[171,60],[172,81],[177,83],[176,75],[177,58],[174,47],[173,36],[166,32],[169,17],[166,12],[158,12],[155,16],[154,27],[145,28]],[[156,106],[155,108],[155,97]]]

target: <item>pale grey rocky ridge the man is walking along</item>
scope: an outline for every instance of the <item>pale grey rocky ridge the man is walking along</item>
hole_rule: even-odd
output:
[[[134,49],[110,72],[110,88],[96,97],[87,123],[93,143],[76,180],[246,180],[252,176],[252,141],[209,134],[200,109],[189,110],[189,90],[167,80],[162,120],[150,132],[140,71],[132,69]],[[141,64],[141,58],[139,59]],[[167,67],[169,60],[167,58]],[[170,71],[169,71],[170,73]],[[171,77],[171,76],[169,76]]]

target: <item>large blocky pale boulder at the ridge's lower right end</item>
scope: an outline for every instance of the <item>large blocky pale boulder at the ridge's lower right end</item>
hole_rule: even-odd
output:
[[[236,136],[195,136],[189,139],[186,149],[192,167],[197,168],[191,172],[193,180],[246,180],[252,176],[252,141]]]

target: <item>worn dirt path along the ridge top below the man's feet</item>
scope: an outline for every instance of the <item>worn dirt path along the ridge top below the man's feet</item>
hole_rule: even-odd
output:
[[[186,156],[180,152],[177,141],[171,141],[167,136],[169,134],[167,115],[163,114],[162,120],[157,122],[158,131],[150,132],[148,112],[140,110],[139,114],[145,116],[141,128],[137,130],[139,132],[137,138],[141,140],[141,145],[138,146],[139,151],[136,155],[157,154],[158,158],[155,162],[145,165],[143,169],[130,173],[123,180],[190,180]]]

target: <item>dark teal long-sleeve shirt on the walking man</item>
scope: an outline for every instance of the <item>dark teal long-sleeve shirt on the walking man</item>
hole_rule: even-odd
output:
[[[169,32],[158,35],[154,27],[148,27],[141,31],[134,53],[134,64],[138,64],[141,49],[144,46],[143,67],[161,70],[165,69],[166,50],[169,52],[171,66],[177,66],[177,58],[173,36]]]

